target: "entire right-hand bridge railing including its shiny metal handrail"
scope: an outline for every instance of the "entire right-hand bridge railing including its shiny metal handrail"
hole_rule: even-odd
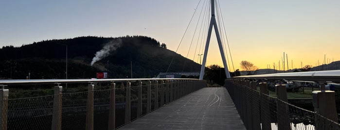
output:
[[[327,78],[324,74],[329,72],[334,71],[307,74],[284,73],[283,75],[285,79],[291,81],[294,77],[295,81],[302,81],[301,78],[304,79],[303,81],[315,81],[324,88],[323,83],[339,82],[340,79],[340,71]],[[309,74],[311,75],[307,76]],[[285,84],[276,85],[276,97],[271,97],[268,94],[267,83],[257,81],[268,79],[282,81],[284,79],[281,76],[280,74],[242,76],[225,81],[225,87],[247,130],[340,130],[334,91],[313,91],[314,111],[308,111],[288,103]],[[314,76],[317,79],[313,79]]]

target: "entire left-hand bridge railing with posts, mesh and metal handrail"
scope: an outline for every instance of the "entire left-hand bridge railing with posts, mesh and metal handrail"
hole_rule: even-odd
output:
[[[64,93],[60,83],[81,91]],[[113,130],[206,87],[205,81],[196,79],[1,80],[0,84],[0,130]],[[54,84],[54,94],[8,98],[16,93],[11,88],[32,84]]]

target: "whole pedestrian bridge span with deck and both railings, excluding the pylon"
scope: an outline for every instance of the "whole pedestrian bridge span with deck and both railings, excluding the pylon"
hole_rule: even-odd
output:
[[[318,72],[294,74],[322,81]],[[256,77],[282,78],[236,77],[218,88],[197,79],[1,80],[0,125],[1,130],[340,129],[331,113],[334,91],[317,92],[315,111],[308,111],[287,102],[284,84],[271,97],[268,81]]]

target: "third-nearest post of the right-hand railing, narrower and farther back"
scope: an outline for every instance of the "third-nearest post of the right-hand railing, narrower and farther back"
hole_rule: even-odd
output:
[[[262,130],[271,130],[270,126],[270,113],[269,113],[269,101],[268,101],[268,86],[267,82],[260,83],[261,91],[261,124]]]

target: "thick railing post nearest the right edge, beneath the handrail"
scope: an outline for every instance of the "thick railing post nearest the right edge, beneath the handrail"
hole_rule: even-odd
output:
[[[328,118],[336,123],[338,123],[338,116],[337,116],[337,109],[335,104],[335,92],[325,90],[325,84],[320,83],[322,90],[321,91],[313,91],[313,106],[314,111],[317,112],[317,114],[320,114],[324,116],[325,118]],[[331,130],[332,123],[331,121],[327,119],[322,119],[323,123],[320,122],[321,119],[319,115],[316,115],[315,119],[315,127],[316,130]],[[322,125],[320,125],[322,124]]]

